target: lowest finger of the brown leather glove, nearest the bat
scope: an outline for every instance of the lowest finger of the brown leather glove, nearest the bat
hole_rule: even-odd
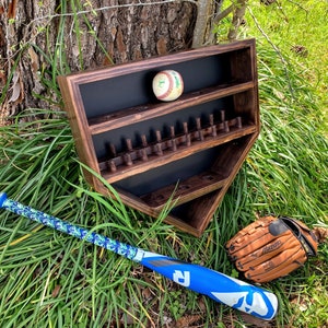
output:
[[[306,261],[304,249],[286,249],[274,258],[245,272],[245,277],[256,282],[268,282],[300,268]]]

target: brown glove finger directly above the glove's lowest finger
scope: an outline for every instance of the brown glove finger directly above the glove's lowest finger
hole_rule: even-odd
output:
[[[278,256],[286,248],[297,249],[298,247],[300,242],[297,238],[293,234],[286,233],[283,236],[280,236],[279,238],[265,245],[262,248],[257,249],[247,256],[238,258],[236,260],[236,268],[241,271],[247,271],[249,268],[255,268],[256,266],[266,262],[270,258]]]

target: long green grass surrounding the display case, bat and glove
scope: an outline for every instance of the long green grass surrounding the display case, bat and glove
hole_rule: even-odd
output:
[[[324,73],[324,67],[319,66],[324,60],[316,62],[314,69],[312,55],[304,58],[289,51],[290,45],[298,40],[286,39],[288,35],[297,35],[292,33],[296,28],[292,26],[302,17],[300,5],[280,1],[288,17],[291,14],[288,8],[301,11],[290,17],[290,33],[282,35],[278,30],[277,35],[266,25],[276,20],[267,20],[267,15],[276,17],[282,11],[276,4],[274,9],[256,3],[253,16],[266,35],[248,13],[248,25],[241,37],[257,37],[261,133],[218,209],[218,219],[200,238],[164,224],[164,214],[154,220],[94,192],[84,181],[62,112],[54,116],[47,109],[30,108],[13,125],[0,128],[0,190],[113,238],[232,276],[237,273],[227,260],[224,244],[257,215],[284,214],[302,219],[309,226],[327,226],[328,140],[323,133],[323,104],[327,95],[319,91],[324,84],[318,81],[323,81],[324,74],[316,74],[316,71]],[[313,4],[313,8],[318,7]],[[315,17],[312,13],[308,16]],[[325,24],[326,21],[320,21],[317,25]],[[306,42],[308,50],[321,51]],[[58,91],[56,74],[67,70],[61,50],[58,48],[56,56],[45,56],[49,62],[56,61],[57,70],[47,72],[52,77],[47,85],[54,91]],[[54,106],[52,99],[50,105]],[[40,118],[30,122],[26,118],[32,114]],[[263,285],[277,293],[280,301],[273,327],[327,325],[327,244],[321,244],[317,258]],[[249,318],[236,311],[179,288],[138,265],[3,211],[0,212],[0,326],[15,328],[119,327],[119,324],[169,327],[181,318],[194,318],[194,325],[201,327],[251,326]]]

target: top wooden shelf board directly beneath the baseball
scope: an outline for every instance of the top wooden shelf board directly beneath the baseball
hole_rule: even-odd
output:
[[[91,134],[98,134],[107,130],[129,126],[136,121],[147,120],[165,114],[169,114],[189,106],[196,106],[206,102],[211,102],[220,97],[245,92],[255,87],[255,82],[230,83],[220,86],[206,87],[199,91],[181,95],[177,101],[169,103],[144,104],[133,106],[122,110],[117,110],[108,115],[102,115],[89,119]]]

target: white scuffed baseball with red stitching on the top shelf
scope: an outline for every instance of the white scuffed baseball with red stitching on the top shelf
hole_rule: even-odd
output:
[[[159,101],[177,99],[184,92],[183,77],[174,70],[159,72],[153,79],[153,92]]]

